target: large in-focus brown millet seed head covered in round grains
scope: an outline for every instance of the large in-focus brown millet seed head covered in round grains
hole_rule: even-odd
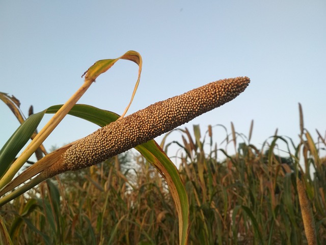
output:
[[[114,121],[72,145],[61,170],[52,171],[85,168],[123,153],[233,100],[249,83],[247,77],[219,80]]]

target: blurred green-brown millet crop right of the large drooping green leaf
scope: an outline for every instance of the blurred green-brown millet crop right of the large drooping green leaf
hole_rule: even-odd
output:
[[[302,118],[302,111],[300,115]],[[198,125],[194,126],[194,136],[188,129],[179,130],[182,143],[172,142],[182,148],[178,154],[179,172],[189,197],[192,223],[189,241],[324,244],[325,165],[318,164],[322,161],[319,157],[322,148],[316,148],[309,132],[305,129],[297,146],[291,139],[275,135],[259,150],[250,144],[253,122],[248,138],[236,133],[232,122],[230,134],[224,126],[217,127],[226,131],[224,148],[213,143],[212,126],[208,126],[203,138]],[[325,140],[318,135],[324,147]],[[243,142],[238,143],[239,138]],[[274,153],[279,141],[288,148],[285,156]],[[172,143],[165,146],[166,151]],[[235,155],[226,150],[232,145]],[[218,156],[225,160],[219,161]],[[306,163],[305,170],[300,162]],[[313,179],[307,170],[311,167],[316,169]]]

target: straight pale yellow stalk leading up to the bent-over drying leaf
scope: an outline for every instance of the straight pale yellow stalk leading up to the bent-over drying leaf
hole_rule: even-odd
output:
[[[0,180],[0,189],[2,189],[14,178],[15,174],[19,171],[22,165],[33,155],[43,141],[49,136],[49,134],[58,126],[60,121],[68,114],[71,108],[77,103],[80,97],[83,96],[93,82],[94,80],[85,79],[83,85],[70,97],[70,99],[60,108],[60,110],[53,115],[53,117],[35,136],[32,142],[20,154],[16,161],[14,161],[7,173]]]

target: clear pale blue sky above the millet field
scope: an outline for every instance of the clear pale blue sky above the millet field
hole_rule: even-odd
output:
[[[30,105],[39,112],[64,104],[94,62],[129,50],[142,55],[143,71],[128,114],[216,80],[248,76],[251,84],[235,100],[181,128],[199,124],[204,134],[208,125],[224,125],[230,133],[232,121],[248,136],[254,120],[251,143],[258,149],[276,129],[298,144],[301,103],[305,128],[315,141],[315,129],[325,135],[323,0],[0,0],[0,91],[17,97],[25,115]],[[136,64],[118,61],[78,103],[121,114],[137,75]],[[0,148],[18,126],[0,102]],[[62,146],[97,128],[67,116],[44,145]],[[221,143],[223,128],[214,127],[213,137]],[[180,133],[172,140],[180,141]]]

